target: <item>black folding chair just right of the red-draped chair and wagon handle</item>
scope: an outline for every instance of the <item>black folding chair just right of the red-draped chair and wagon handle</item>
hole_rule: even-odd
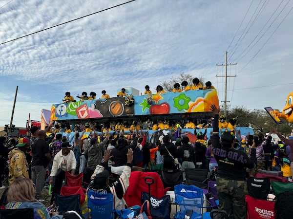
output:
[[[179,169],[163,169],[162,170],[162,181],[164,188],[171,187],[174,189],[175,185],[182,183],[182,171]]]

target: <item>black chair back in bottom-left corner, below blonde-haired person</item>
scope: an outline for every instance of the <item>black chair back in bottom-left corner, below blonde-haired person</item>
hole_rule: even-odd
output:
[[[33,208],[1,209],[0,219],[34,219]]]

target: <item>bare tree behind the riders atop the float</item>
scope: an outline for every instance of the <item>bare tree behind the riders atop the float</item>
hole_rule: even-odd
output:
[[[181,85],[181,83],[183,81],[187,81],[189,85],[192,85],[192,80],[193,78],[197,77],[199,79],[199,82],[204,85],[204,78],[203,77],[199,77],[199,76],[193,76],[189,73],[179,73],[178,76],[172,76],[170,77],[169,80],[167,81],[163,81],[161,82],[162,87],[164,88],[164,90],[166,92],[172,92],[173,88],[174,88],[174,84],[175,83],[179,83]]]

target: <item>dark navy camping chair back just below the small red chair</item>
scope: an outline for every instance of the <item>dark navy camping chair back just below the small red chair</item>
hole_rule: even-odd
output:
[[[81,211],[80,206],[80,195],[70,195],[70,196],[62,196],[59,194],[55,194],[54,206],[58,206],[59,212],[66,211]]]

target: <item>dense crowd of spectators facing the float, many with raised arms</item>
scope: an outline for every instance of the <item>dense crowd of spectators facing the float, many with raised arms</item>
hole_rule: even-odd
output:
[[[122,122],[111,124],[112,134],[109,134],[109,128],[105,126],[94,126],[89,123],[76,125],[71,139],[64,138],[63,134],[59,133],[71,131],[71,127],[65,124],[52,123],[45,130],[32,127],[30,136],[20,138],[14,145],[11,145],[13,141],[10,141],[9,147],[7,139],[1,136],[0,174],[3,172],[2,164],[9,158],[11,189],[14,188],[14,183],[27,183],[28,188],[34,185],[34,197],[30,197],[30,201],[33,199],[33,202],[42,203],[42,189],[47,182],[53,187],[53,203],[54,194],[60,193],[65,172],[72,175],[83,172],[84,181],[89,183],[89,189],[112,192],[118,197],[115,199],[115,207],[123,209],[123,194],[129,184],[132,165],[158,173],[162,169],[178,168],[183,171],[185,168],[207,169],[210,174],[217,170],[217,190],[221,208],[234,218],[243,218],[244,196],[247,192],[246,178],[251,176],[253,171],[255,173],[257,169],[281,170],[283,177],[292,181],[293,140],[272,129],[280,138],[278,144],[272,143],[271,133],[254,135],[250,144],[249,136],[242,139],[235,125],[232,125],[231,129],[223,128],[225,118],[219,116],[219,110],[215,106],[212,105],[211,110],[214,113],[213,123],[210,125],[213,131],[209,133],[208,138],[207,129],[202,132],[198,125],[191,124],[191,118],[186,120],[184,127],[194,129],[195,142],[191,142],[188,136],[181,135],[179,124],[175,124],[175,132],[171,132],[173,134],[155,132],[149,135],[147,129],[143,131],[142,128],[155,125],[158,129],[170,128],[167,120],[156,124],[152,123],[150,118],[146,118],[141,125],[140,122],[134,121],[129,129]],[[202,128],[206,128],[205,123],[203,124]],[[126,134],[125,130],[129,130],[129,133]],[[91,134],[84,135],[85,132]],[[219,132],[222,132],[221,138]],[[174,163],[174,159],[178,159],[178,165]],[[50,172],[48,179],[45,178],[47,169]],[[127,185],[123,191],[118,191],[115,186],[111,188],[111,184],[108,183],[110,174],[117,181],[114,183],[116,187],[119,183]],[[19,181],[22,178],[32,181]],[[185,174],[183,180],[186,180]],[[235,189],[230,191],[231,187]],[[3,188],[5,186],[0,185],[0,189]]]

